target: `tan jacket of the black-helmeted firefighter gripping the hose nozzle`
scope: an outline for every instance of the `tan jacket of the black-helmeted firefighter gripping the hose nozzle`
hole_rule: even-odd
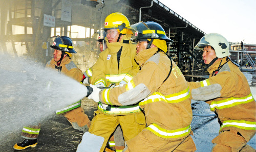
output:
[[[188,136],[191,130],[188,84],[173,61],[168,77],[170,59],[164,52],[157,51],[158,48],[153,47],[139,52],[135,60],[141,70],[126,85],[101,91],[100,101],[108,105],[139,103],[144,109],[147,130],[169,140],[181,139]]]

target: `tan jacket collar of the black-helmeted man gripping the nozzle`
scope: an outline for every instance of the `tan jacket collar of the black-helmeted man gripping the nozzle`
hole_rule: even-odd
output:
[[[141,50],[136,56],[135,60],[139,64],[140,67],[143,66],[143,64],[150,59],[158,50],[158,47],[153,47],[150,49],[144,49]]]

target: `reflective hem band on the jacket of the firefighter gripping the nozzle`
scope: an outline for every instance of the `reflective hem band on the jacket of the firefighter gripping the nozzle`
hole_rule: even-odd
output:
[[[186,126],[185,128],[177,129],[177,130],[166,130],[162,129],[156,123],[152,123],[150,126],[146,128],[147,130],[151,131],[155,135],[161,138],[179,138],[184,137],[190,134],[191,127],[190,125]]]

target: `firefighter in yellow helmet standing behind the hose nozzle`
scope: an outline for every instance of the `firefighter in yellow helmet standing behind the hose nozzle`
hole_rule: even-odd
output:
[[[92,67],[91,84],[97,87],[109,87],[112,83],[122,86],[131,81],[139,71],[139,66],[134,60],[136,45],[132,44],[133,32],[129,27],[129,20],[121,13],[112,13],[105,18],[104,30],[108,48],[100,53]],[[139,105],[106,107],[99,103],[89,132],[83,135],[77,151],[103,151],[119,124],[124,141],[139,134],[145,128],[145,116]],[[122,149],[116,146],[116,151]]]

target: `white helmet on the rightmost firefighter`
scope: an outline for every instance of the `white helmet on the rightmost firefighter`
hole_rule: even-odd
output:
[[[197,43],[195,49],[203,49],[205,46],[214,47],[215,54],[218,58],[230,56],[227,39],[218,33],[206,34]]]

